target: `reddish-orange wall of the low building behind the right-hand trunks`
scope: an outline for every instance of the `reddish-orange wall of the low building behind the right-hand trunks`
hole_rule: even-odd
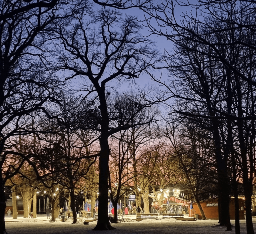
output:
[[[203,201],[201,202],[201,206],[202,206],[202,209],[204,210],[204,213],[207,219],[219,219],[218,198]],[[202,216],[196,203],[193,204],[193,207],[194,209],[188,210],[189,217],[193,217],[194,214],[198,214],[198,218],[201,219]],[[239,217],[240,219],[245,219],[243,199],[239,199],[239,207],[240,207]],[[234,198],[230,198],[229,214],[230,214],[230,219],[235,219]]]

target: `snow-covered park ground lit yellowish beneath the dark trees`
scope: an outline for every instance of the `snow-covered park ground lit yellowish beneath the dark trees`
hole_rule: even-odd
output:
[[[134,215],[124,217],[125,223],[112,224],[115,230],[97,231],[104,234],[211,234],[211,233],[235,233],[234,220],[231,220],[232,231],[225,232],[225,227],[218,226],[218,220],[196,220],[196,221],[180,221],[174,218],[165,219],[143,219],[142,221],[133,220]],[[78,224],[71,224],[72,219],[67,219],[66,222],[61,220],[51,222],[46,219],[46,215],[38,215],[35,219],[8,218],[5,216],[6,231],[8,234],[93,234],[92,229],[96,226],[97,221],[90,222],[89,225],[84,225],[85,219],[78,219]],[[254,232],[256,232],[256,218],[253,218]],[[240,220],[241,234],[246,234],[246,220]]]

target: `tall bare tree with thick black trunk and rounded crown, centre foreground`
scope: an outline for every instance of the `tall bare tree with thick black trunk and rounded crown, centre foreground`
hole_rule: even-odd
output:
[[[112,229],[108,220],[108,175],[109,175],[109,143],[110,135],[133,126],[127,120],[122,126],[113,127],[110,121],[107,97],[111,92],[106,86],[111,81],[122,81],[138,77],[146,68],[150,67],[156,51],[151,49],[151,41],[139,35],[141,26],[136,18],[127,16],[122,18],[115,10],[101,9],[95,16],[87,19],[75,15],[75,23],[70,27],[65,24],[56,25],[51,30],[52,42],[65,48],[56,50],[57,69],[69,70],[70,77],[80,77],[88,87],[88,93],[97,93],[98,108],[101,119],[99,156],[99,216],[95,230]],[[93,24],[99,29],[94,29]],[[58,41],[56,41],[57,39]],[[88,94],[87,93],[87,94]],[[137,107],[140,112],[140,106]]]

